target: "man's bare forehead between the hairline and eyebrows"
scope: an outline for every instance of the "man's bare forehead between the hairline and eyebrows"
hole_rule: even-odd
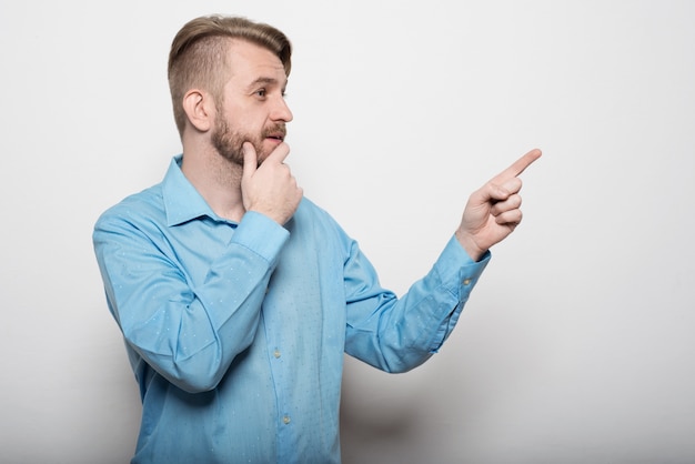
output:
[[[231,40],[228,50],[232,80],[251,83],[262,79],[285,84],[284,67],[272,51],[245,40]]]

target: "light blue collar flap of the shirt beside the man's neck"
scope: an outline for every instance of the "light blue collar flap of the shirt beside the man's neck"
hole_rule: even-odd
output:
[[[167,225],[173,226],[207,215],[214,218],[212,209],[185,179],[181,171],[182,154],[173,157],[162,181],[162,198],[167,211]]]

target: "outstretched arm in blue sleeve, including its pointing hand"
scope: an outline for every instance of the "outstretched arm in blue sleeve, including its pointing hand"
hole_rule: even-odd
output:
[[[349,354],[403,372],[439,350],[490,261],[488,249],[521,222],[518,174],[538,157],[538,150],[526,153],[471,194],[455,239],[401,299],[380,288],[375,271],[353,245],[345,264]]]

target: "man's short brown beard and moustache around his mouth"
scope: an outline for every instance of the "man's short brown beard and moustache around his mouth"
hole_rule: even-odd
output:
[[[253,137],[250,133],[241,131],[233,131],[226,118],[222,115],[215,122],[214,130],[211,135],[212,145],[218,153],[228,161],[241,167],[244,165],[244,142],[250,142],[256,153],[259,165],[270,155],[270,152],[263,149],[263,141],[270,135],[282,134],[283,139],[286,134],[286,128],[284,123],[276,123],[272,127],[264,128],[259,137]]]

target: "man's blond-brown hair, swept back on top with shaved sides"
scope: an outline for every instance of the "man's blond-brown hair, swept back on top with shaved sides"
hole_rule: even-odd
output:
[[[223,16],[189,21],[177,33],[169,52],[169,89],[181,135],[187,121],[183,111],[185,92],[200,88],[210,92],[216,104],[222,101],[222,88],[229,78],[229,39],[246,40],[270,50],[282,62],[285,74],[290,75],[292,44],[284,33],[272,26]]]

